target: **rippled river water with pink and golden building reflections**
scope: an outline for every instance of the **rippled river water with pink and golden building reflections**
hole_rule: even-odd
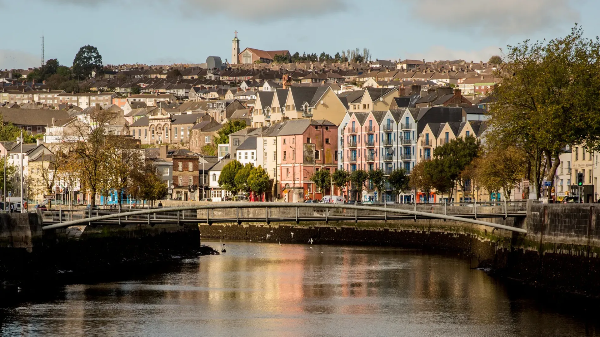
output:
[[[598,315],[548,309],[470,269],[467,258],[362,246],[226,248],[156,275],[70,285],[58,297],[0,309],[0,335],[596,336],[599,329]]]

